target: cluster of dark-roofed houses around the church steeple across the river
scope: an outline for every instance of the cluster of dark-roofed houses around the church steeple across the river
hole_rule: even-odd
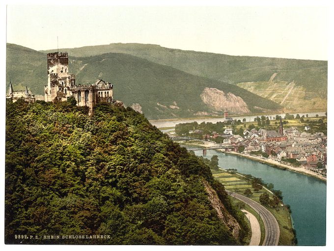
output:
[[[205,138],[222,137],[223,144],[230,145],[230,149],[236,152],[243,146],[245,154],[261,151],[278,161],[295,159],[306,169],[322,169],[318,163],[323,168],[327,167],[327,136],[324,133],[300,132],[297,127],[283,129],[280,122],[279,132],[254,128],[244,130],[243,134],[244,137],[233,135],[233,130],[228,128],[224,134],[213,132],[213,135],[206,135]]]

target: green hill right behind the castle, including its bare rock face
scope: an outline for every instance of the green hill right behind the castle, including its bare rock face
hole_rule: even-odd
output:
[[[15,69],[28,72],[32,67],[25,63],[28,56],[11,65],[11,58],[18,58],[23,54],[21,47],[14,46],[13,49],[10,44],[7,47],[7,78],[15,75]],[[45,54],[31,50],[28,52],[35,60],[30,60],[30,64],[40,64],[44,60],[46,65]],[[224,110],[240,114],[280,109],[277,103],[239,86],[195,76],[127,54],[70,57],[69,67],[70,72],[77,74],[77,83],[94,83],[98,78],[113,83],[114,98],[141,110],[149,119],[223,115]],[[42,83],[47,81],[46,72],[38,74],[36,78],[34,75],[20,74],[19,77],[11,78],[11,81],[15,88],[15,84],[24,83],[29,78],[31,84],[28,85],[32,91],[42,94]],[[38,81],[43,78],[43,81]]]

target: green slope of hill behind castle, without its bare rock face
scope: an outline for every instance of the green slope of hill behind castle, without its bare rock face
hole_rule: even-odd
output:
[[[21,59],[21,56],[24,58]],[[26,63],[28,61],[29,64]],[[205,87],[215,87],[242,97],[251,112],[258,111],[254,107],[272,110],[279,108],[278,104],[236,85],[187,74],[170,66],[126,54],[71,57],[69,67],[71,72],[77,73],[77,83],[94,83],[97,78],[113,83],[114,97],[117,100],[126,105],[139,103],[150,119],[190,117],[196,112],[211,112],[211,108],[205,106],[200,99]],[[47,81],[45,68],[45,54],[21,46],[7,45],[7,83],[10,76],[15,76],[11,78],[14,89],[18,84],[27,83],[35,94],[42,94]],[[180,109],[168,107],[174,101]],[[159,106],[158,103],[167,107]]]

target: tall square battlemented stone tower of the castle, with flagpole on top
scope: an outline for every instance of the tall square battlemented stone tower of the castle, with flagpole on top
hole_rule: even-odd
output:
[[[48,85],[44,87],[45,101],[65,101],[71,96],[75,85],[75,74],[68,72],[68,54],[54,52],[48,54]]]

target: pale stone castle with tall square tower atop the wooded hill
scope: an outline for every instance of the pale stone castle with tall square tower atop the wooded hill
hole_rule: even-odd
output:
[[[48,85],[45,85],[44,91],[46,102],[74,97],[78,106],[89,107],[90,114],[99,102],[122,104],[113,100],[112,84],[101,79],[91,85],[77,85],[75,74],[69,73],[66,52],[48,54]]]

